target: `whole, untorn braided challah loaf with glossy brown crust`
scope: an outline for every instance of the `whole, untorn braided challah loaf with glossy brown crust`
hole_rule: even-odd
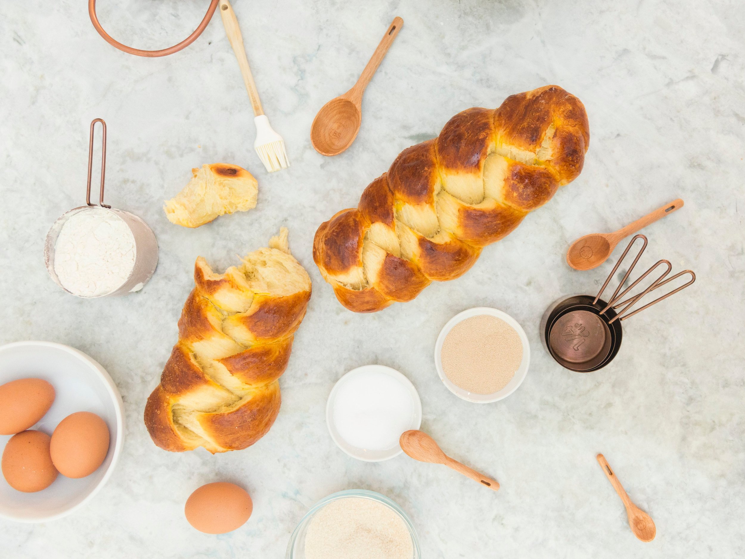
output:
[[[412,300],[431,281],[460,277],[574,180],[588,145],[585,107],[558,86],[464,110],[402,151],[356,209],[322,224],[313,259],[347,309]]]

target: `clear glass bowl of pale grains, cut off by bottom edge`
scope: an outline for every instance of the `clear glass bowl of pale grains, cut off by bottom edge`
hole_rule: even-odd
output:
[[[399,505],[364,489],[317,502],[290,537],[285,559],[421,559],[419,537]]]

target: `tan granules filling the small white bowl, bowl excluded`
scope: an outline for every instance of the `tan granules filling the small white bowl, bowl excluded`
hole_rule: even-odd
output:
[[[515,376],[522,362],[522,341],[501,318],[478,315],[448,332],[440,353],[443,373],[472,394],[494,394]]]

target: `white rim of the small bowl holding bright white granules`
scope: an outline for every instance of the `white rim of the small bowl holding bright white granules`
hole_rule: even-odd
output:
[[[416,392],[416,388],[414,388],[414,385],[411,384],[411,381],[409,379],[399,373],[399,371],[397,371],[396,369],[391,369],[390,367],[386,367],[384,365],[364,365],[362,367],[357,367],[356,369],[350,370],[349,373],[346,373],[339,380],[337,380],[334,388],[332,388],[331,394],[329,394],[329,399],[326,401],[326,425],[329,426],[329,433],[331,433],[331,438],[334,439],[334,442],[337,444],[337,446],[348,455],[352,456],[352,458],[357,458],[358,460],[363,460],[366,462],[381,462],[393,458],[394,456],[398,456],[399,454],[404,452],[401,449],[401,446],[396,444],[396,446],[393,446],[392,448],[386,450],[361,449],[357,446],[352,446],[351,444],[347,443],[346,440],[344,440],[341,435],[339,435],[339,432],[337,431],[334,424],[334,402],[339,392],[339,388],[343,386],[345,382],[349,381],[349,379],[352,379],[354,376],[360,375],[362,373],[367,373],[369,371],[387,374],[409,389],[409,393],[414,404],[414,412],[413,417],[411,418],[411,424],[408,429],[419,429],[419,426],[422,425],[422,401],[419,399],[419,393]]]

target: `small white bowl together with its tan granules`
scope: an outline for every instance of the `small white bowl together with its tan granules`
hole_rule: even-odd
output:
[[[459,398],[486,404],[516,391],[530,367],[522,326],[498,309],[475,307],[448,320],[434,344],[440,380]]]

